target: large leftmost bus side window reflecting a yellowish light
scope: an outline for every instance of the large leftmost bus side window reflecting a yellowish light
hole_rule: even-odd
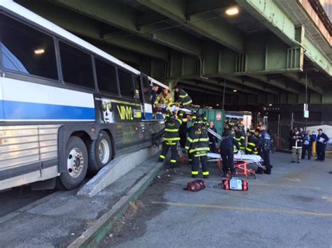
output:
[[[58,80],[52,36],[0,15],[1,53],[8,71]]]

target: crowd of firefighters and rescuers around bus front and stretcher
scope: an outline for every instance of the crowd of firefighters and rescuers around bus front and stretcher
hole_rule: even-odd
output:
[[[174,102],[167,89],[164,89],[160,94],[157,94],[157,92],[158,89],[155,91],[155,94],[152,94],[151,99],[155,106]],[[179,103],[181,108],[186,108],[192,103],[191,97],[188,96],[184,89],[175,86],[174,92],[175,102]],[[188,119],[191,119],[192,125],[186,131],[185,149],[188,152],[188,161],[191,163],[192,177],[199,175],[199,163],[202,163],[202,176],[205,178],[209,177],[207,152],[221,154],[224,177],[232,177],[235,173],[233,157],[234,154],[240,151],[245,154],[259,154],[263,158],[265,170],[263,171],[263,168],[259,167],[256,173],[271,173],[270,147],[272,141],[266,130],[266,126],[262,125],[256,130],[247,129],[247,131],[244,131],[244,127],[240,123],[233,124],[232,122],[226,122],[221,136],[221,143],[218,147],[218,139],[214,134],[208,132],[208,129],[210,129],[214,133],[217,133],[214,128],[214,122],[207,122],[207,118],[204,115],[195,112],[190,116],[184,116],[183,112],[178,112],[178,115],[174,112],[167,112],[165,117],[164,142],[159,161],[165,160],[167,152],[171,149],[170,165],[177,166],[177,147],[181,140],[179,130],[182,123]]]

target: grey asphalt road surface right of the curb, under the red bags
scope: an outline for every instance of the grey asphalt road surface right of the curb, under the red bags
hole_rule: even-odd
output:
[[[331,247],[332,161],[271,160],[272,175],[249,179],[249,191],[221,189],[214,164],[195,193],[183,190],[188,165],[164,170],[101,247]]]

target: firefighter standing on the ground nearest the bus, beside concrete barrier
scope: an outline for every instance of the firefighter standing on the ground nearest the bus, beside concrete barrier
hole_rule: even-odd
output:
[[[179,128],[181,124],[181,119],[177,118],[174,113],[170,113],[165,118],[164,143],[162,144],[162,151],[159,156],[160,162],[166,159],[168,149],[171,149],[170,165],[177,165],[177,142],[180,140]]]

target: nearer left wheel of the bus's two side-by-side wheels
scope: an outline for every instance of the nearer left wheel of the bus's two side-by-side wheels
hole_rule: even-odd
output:
[[[67,170],[57,178],[57,188],[76,189],[88,170],[88,151],[81,138],[71,136],[66,145]]]

